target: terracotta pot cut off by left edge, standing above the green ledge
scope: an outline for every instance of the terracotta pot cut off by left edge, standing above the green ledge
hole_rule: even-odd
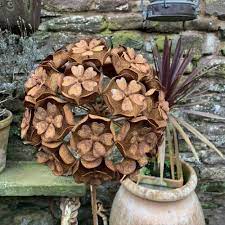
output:
[[[5,168],[6,165],[6,150],[9,138],[9,129],[12,122],[12,113],[6,111],[7,117],[0,120],[0,172]]]

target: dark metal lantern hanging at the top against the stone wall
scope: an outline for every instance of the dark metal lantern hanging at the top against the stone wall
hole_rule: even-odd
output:
[[[199,0],[150,0],[147,9],[143,7],[146,20],[186,21],[197,17]]]

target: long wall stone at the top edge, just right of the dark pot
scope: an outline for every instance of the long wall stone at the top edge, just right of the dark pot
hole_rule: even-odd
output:
[[[44,0],[43,7],[53,12],[83,12],[92,10],[94,0]]]

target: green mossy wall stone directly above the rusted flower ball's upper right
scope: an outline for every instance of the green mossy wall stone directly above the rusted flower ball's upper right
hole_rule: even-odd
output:
[[[143,36],[135,31],[118,31],[112,37],[113,47],[123,45],[140,50],[144,45]]]

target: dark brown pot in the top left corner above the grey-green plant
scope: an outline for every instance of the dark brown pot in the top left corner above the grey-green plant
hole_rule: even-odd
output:
[[[0,27],[10,28],[12,32],[35,31],[40,23],[41,0],[1,0],[0,1]],[[18,21],[22,20],[22,28]],[[21,25],[21,22],[19,22]],[[31,29],[32,27],[32,29]]]

